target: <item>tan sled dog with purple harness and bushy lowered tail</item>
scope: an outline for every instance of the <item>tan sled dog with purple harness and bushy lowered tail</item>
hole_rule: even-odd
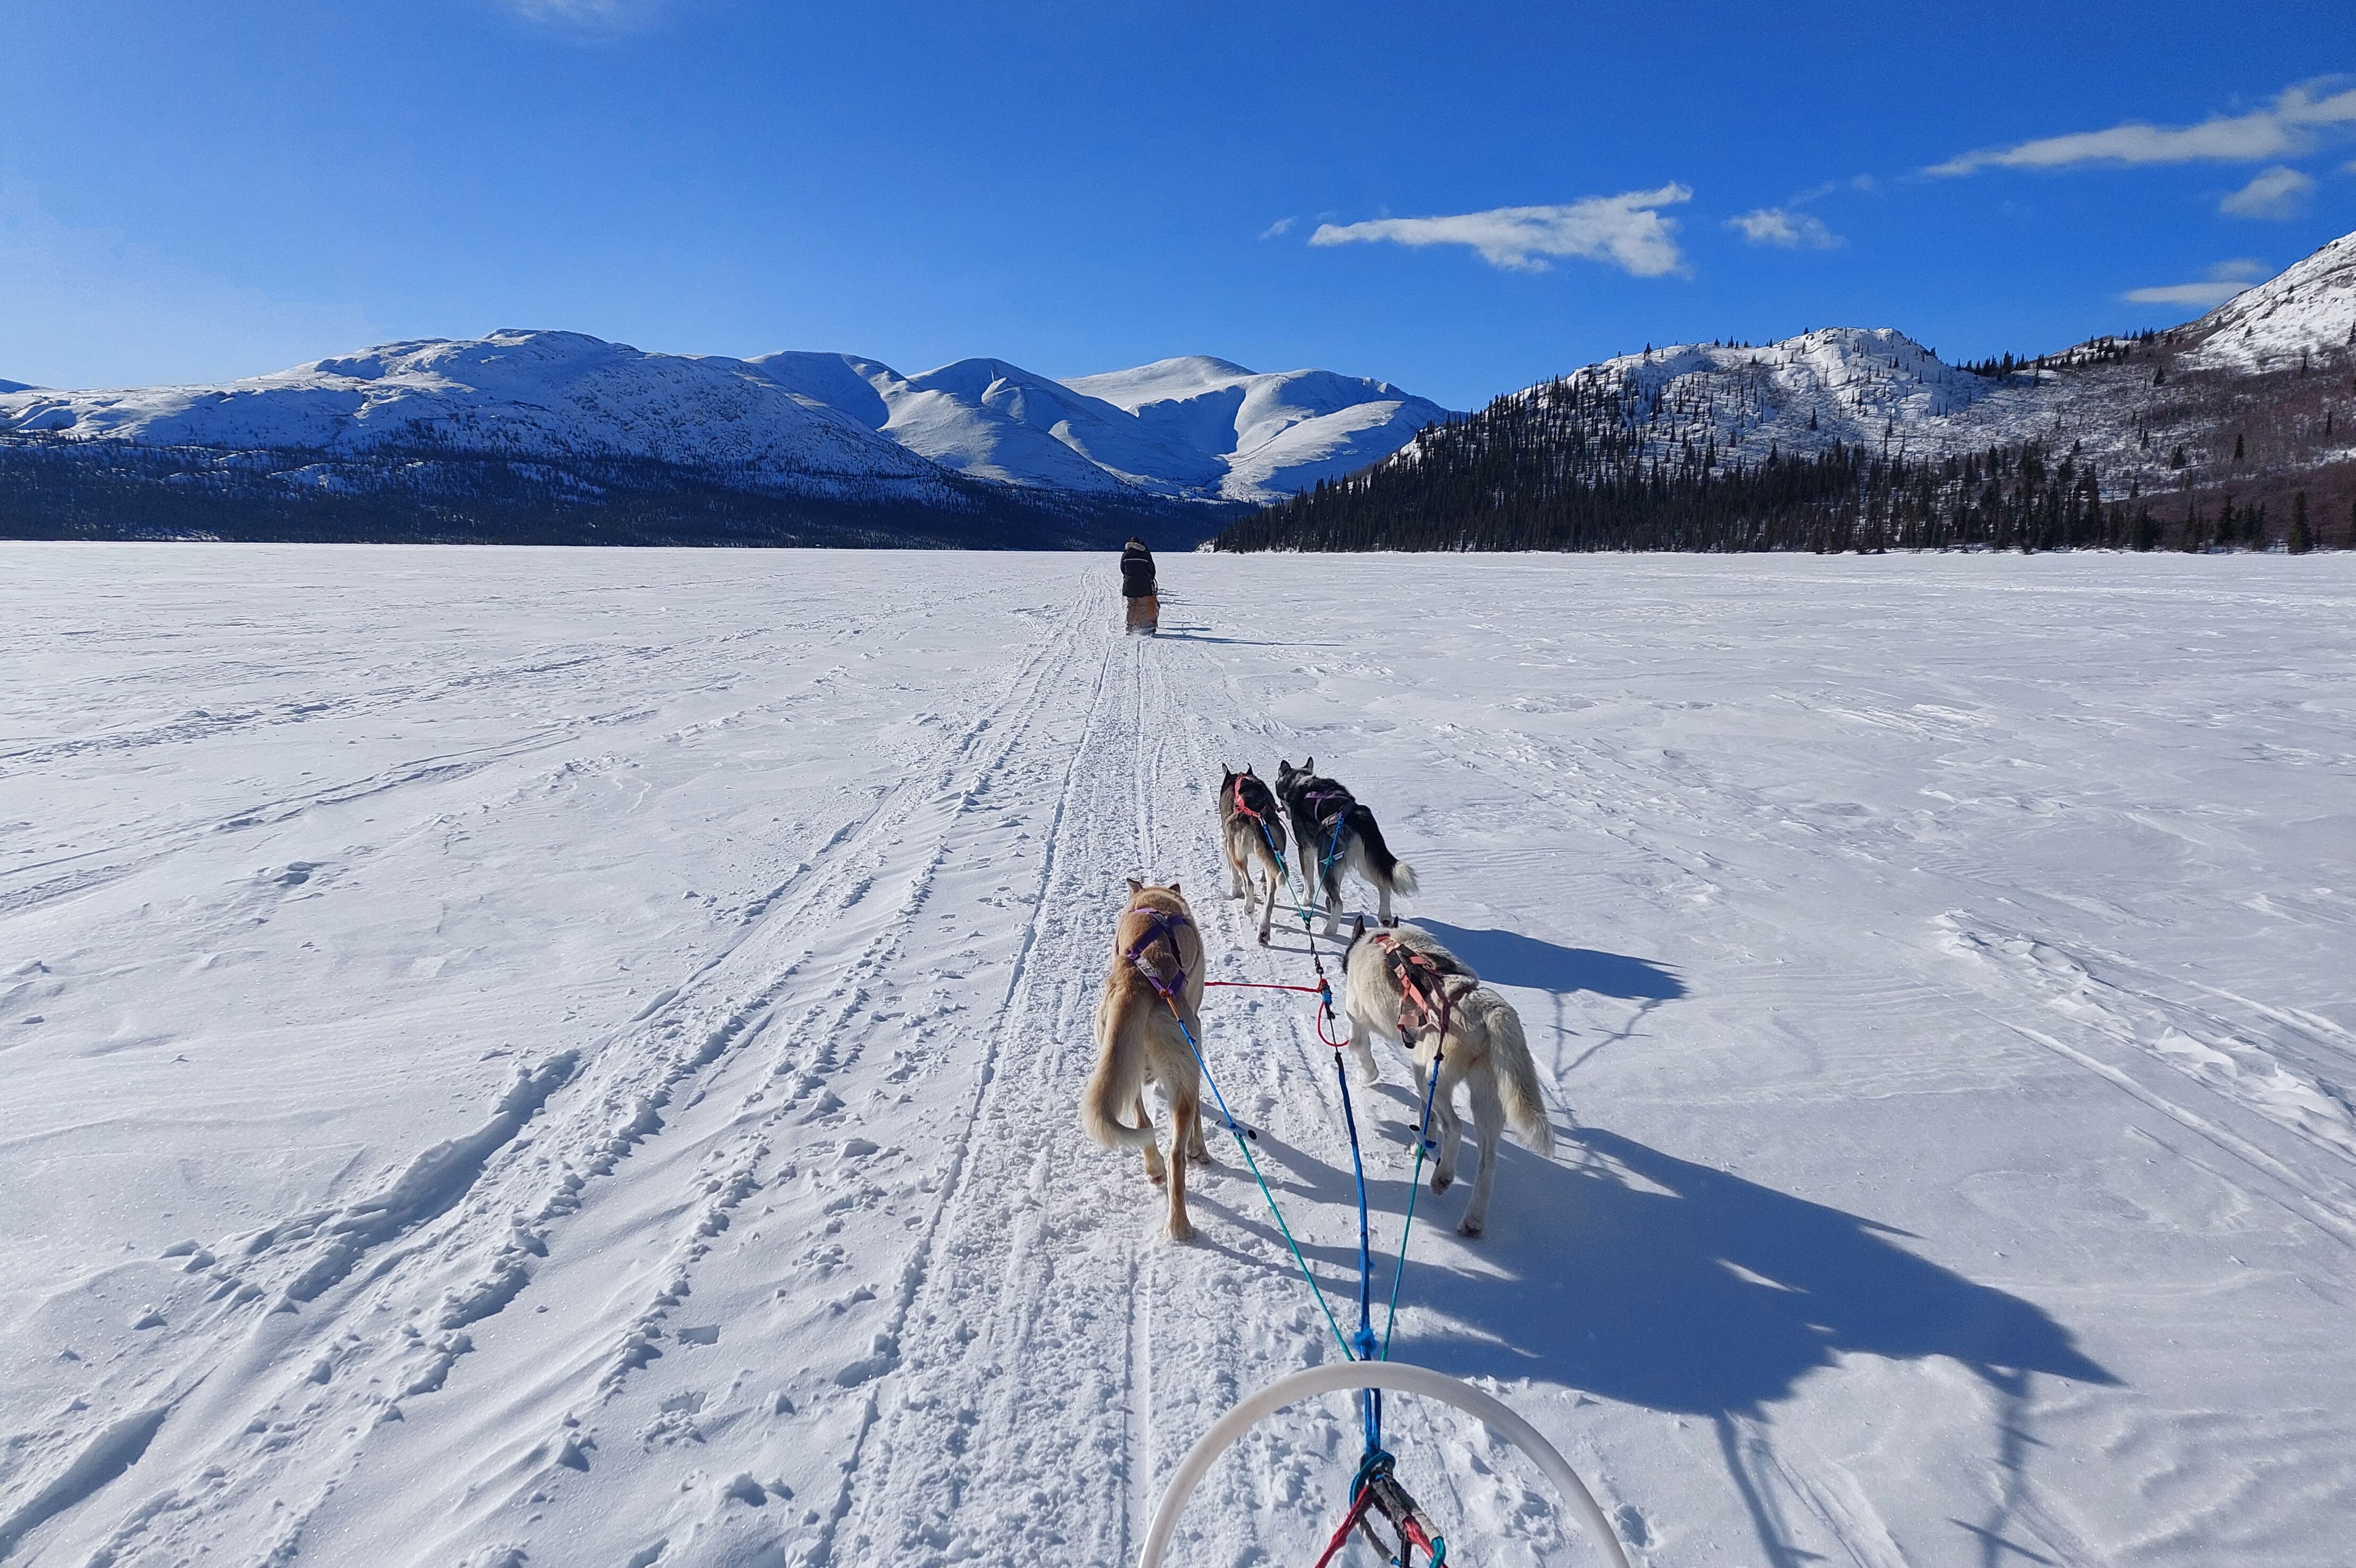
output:
[[[1176,1008],[1176,1015],[1173,1015]],[[1171,1241],[1192,1241],[1185,1217],[1185,1163],[1209,1163],[1202,1142],[1202,1069],[1178,1019],[1202,1038],[1202,935],[1178,883],[1129,878],[1129,904],[1112,923],[1112,968],[1096,1003],[1096,1071],[1079,1095],[1079,1125],[1107,1149],[1145,1149],[1145,1177],[1169,1184]],[[1159,1083],[1171,1109],[1171,1163],[1162,1170],[1145,1085]],[[1136,1125],[1121,1121],[1136,1111]]]

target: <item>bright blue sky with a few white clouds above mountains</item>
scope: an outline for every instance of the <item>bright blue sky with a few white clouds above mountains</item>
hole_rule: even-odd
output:
[[[2054,348],[2356,228],[2316,0],[16,0],[0,104],[47,386],[573,327],[1470,407],[1647,341]]]

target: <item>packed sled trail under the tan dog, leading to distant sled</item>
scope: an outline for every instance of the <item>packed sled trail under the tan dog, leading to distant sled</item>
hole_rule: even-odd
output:
[[[1105,655],[1025,932],[1030,958],[985,1055],[990,1078],[905,1314],[902,1361],[884,1380],[825,1561],[1126,1561],[1159,1469],[1263,1373],[1317,1354],[1305,1337],[1312,1307],[1258,1194],[1223,1163],[1232,1154],[1192,1168],[1199,1236],[1173,1245],[1136,1154],[1086,1142],[1072,1111],[1096,1057],[1091,1015],[1124,876],[1190,890],[1211,968],[1270,963],[1223,913],[1204,784],[1213,758],[1190,713],[1202,692],[1173,697],[1199,676],[1192,659],[1176,643],[1114,643]],[[1147,822],[1159,824],[1154,855]],[[1237,1114],[1331,1170],[1348,1158],[1317,1076],[1331,1062],[1308,1055],[1296,1015],[1220,1003],[1206,1052]],[[1169,1137],[1162,1111],[1157,1121]],[[1305,1191],[1308,1175],[1284,1184]],[[1303,1243],[1326,1271],[1355,1260],[1355,1234]],[[1345,1462],[1326,1450],[1338,1429],[1310,1424],[1308,1443],[1270,1441],[1301,1486]],[[1206,1519],[1220,1502],[1232,1521],[1265,1511],[1265,1497],[1211,1500],[1216,1490]],[[1322,1497],[1303,1509],[1303,1533],[1315,1528],[1308,1511],[1322,1511]]]

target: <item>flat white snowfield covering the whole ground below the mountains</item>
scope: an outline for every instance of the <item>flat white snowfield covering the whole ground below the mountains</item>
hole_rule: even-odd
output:
[[[1562,1142],[1423,1198],[1397,1349],[1640,1561],[2344,1561],[2347,556],[1206,556],[1152,643],[1077,556],[0,567],[12,1568],[1126,1561],[1336,1354],[1232,1144],[1176,1248],[1074,1114],[1124,876],[1308,975],[1211,831],[1305,753]],[[1206,1050],[1348,1293],[1298,1001]],[[1593,1561],[1411,1403],[1463,1561]],[[1270,1424],[1183,1561],[1352,1460]]]

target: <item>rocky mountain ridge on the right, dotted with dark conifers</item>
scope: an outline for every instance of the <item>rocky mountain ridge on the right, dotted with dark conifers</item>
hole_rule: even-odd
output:
[[[2337,542],[2356,530],[2351,384],[2356,235],[2344,235],[2191,323],[2094,337],[2017,367],[1946,365],[1892,327],[1647,346],[1432,426],[1343,485],[1279,501],[1220,539]]]

